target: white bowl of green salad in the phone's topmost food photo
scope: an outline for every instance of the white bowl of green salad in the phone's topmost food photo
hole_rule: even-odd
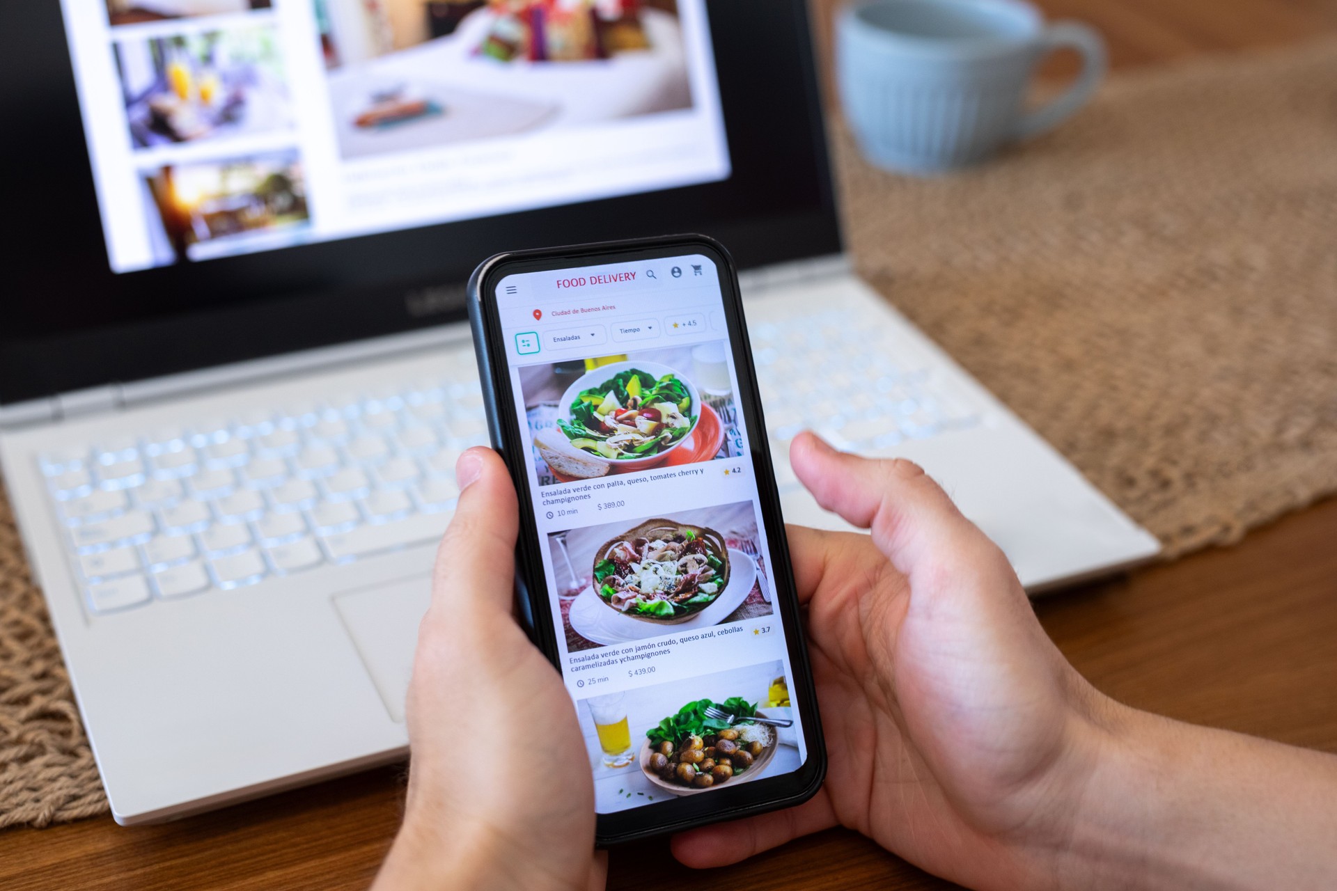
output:
[[[612,362],[562,394],[558,423],[533,438],[539,456],[568,478],[662,465],[697,429],[697,385],[658,362]]]

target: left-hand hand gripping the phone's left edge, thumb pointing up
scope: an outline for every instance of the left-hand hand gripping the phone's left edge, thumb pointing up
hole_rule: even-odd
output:
[[[602,888],[576,713],[512,612],[515,486],[491,449],[456,477],[409,685],[404,827],[374,887]]]

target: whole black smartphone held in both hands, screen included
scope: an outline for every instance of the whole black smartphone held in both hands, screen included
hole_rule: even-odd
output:
[[[575,703],[598,842],[809,799],[826,752],[729,252],[499,254],[469,319],[520,614]]]

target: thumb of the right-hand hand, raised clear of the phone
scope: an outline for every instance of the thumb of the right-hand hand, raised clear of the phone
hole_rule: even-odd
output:
[[[912,582],[916,574],[936,572],[948,554],[992,552],[1001,557],[997,546],[913,461],[861,458],[802,433],[790,446],[790,462],[817,504],[870,529],[873,544]]]

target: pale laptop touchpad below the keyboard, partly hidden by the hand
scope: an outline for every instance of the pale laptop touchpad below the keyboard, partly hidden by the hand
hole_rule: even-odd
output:
[[[417,628],[432,602],[432,576],[336,594],[334,609],[353,639],[390,719],[404,723]]]

